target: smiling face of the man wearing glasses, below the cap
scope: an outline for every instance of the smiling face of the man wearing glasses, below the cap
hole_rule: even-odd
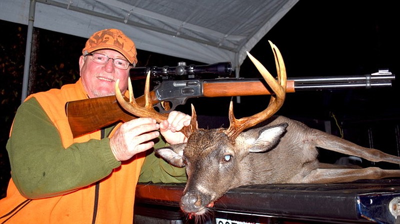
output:
[[[126,58],[115,50],[101,49],[97,53],[107,55],[109,58]],[[122,94],[128,85],[129,68],[122,70],[116,68],[113,60],[109,59],[105,64],[99,64],[92,60],[91,55],[79,57],[79,69],[82,83],[90,98],[114,95],[115,81],[119,79],[119,89]]]

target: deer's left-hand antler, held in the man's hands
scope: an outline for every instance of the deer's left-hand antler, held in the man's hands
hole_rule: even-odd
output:
[[[161,122],[162,120],[166,120],[168,118],[168,113],[159,113],[157,112],[150,98],[150,72],[147,73],[146,83],[144,85],[144,107],[139,106],[134,97],[132,91],[132,83],[130,82],[130,77],[128,78],[128,91],[129,91],[129,102],[127,102],[119,89],[119,79],[115,82],[115,97],[119,104],[129,113],[137,116],[137,117],[152,117],[157,122]],[[188,137],[192,132],[197,129],[196,125],[196,112],[194,111],[194,106],[191,105],[191,121],[190,126],[183,126],[180,130],[186,137]]]

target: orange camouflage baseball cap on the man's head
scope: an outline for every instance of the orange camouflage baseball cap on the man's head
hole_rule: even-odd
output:
[[[131,64],[137,63],[134,42],[119,29],[103,29],[93,33],[82,49],[83,55],[99,49],[120,52]]]

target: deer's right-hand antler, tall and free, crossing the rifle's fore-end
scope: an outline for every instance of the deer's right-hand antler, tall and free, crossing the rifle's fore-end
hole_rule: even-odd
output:
[[[269,41],[271,45],[274,57],[275,65],[277,71],[277,80],[275,80],[272,75],[266,70],[266,68],[255,59],[249,52],[247,52],[248,57],[257,67],[258,71],[261,73],[262,77],[265,79],[266,83],[272,89],[274,95],[271,95],[268,106],[261,112],[258,112],[252,116],[242,117],[236,119],[233,115],[233,103],[230,101],[229,105],[229,128],[225,130],[225,133],[231,138],[235,139],[237,135],[240,134],[244,129],[254,126],[255,124],[262,122],[272,116],[283,104],[285,93],[286,93],[286,68],[284,66],[282,55],[279,49]]]

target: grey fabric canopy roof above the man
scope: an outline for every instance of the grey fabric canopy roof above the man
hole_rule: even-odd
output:
[[[114,27],[138,49],[239,68],[298,0],[1,0],[0,19],[89,37]],[[32,11],[32,10],[31,10]],[[237,72],[236,72],[237,73]]]

